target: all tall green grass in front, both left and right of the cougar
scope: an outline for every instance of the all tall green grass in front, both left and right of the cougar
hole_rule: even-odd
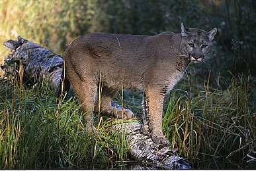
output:
[[[167,95],[163,132],[178,155],[232,157],[255,149],[255,82],[249,74],[232,77],[226,83],[217,76],[212,87],[209,79],[187,72]],[[1,168],[81,168],[89,162],[129,160],[124,130],[108,129],[114,118],[95,116],[101,135],[91,135],[75,97],[58,103],[46,84],[26,89],[1,81],[0,87]],[[141,96],[120,91],[115,99],[140,116]]]

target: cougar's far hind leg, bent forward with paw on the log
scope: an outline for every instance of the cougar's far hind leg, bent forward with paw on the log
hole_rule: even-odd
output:
[[[116,95],[115,89],[112,89],[110,87],[103,85],[97,97],[95,111],[111,114],[112,116],[117,118],[124,118],[124,119],[133,118],[134,114],[132,113],[131,110],[116,109],[115,107],[112,107],[111,100],[114,98],[114,95]]]

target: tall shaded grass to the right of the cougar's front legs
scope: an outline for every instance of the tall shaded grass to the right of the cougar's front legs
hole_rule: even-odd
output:
[[[209,79],[198,84],[196,75],[189,72],[182,85],[187,91],[175,89],[171,93],[163,130],[180,155],[231,157],[255,149],[255,87],[249,73],[232,78],[226,83],[217,76],[214,88]],[[220,88],[220,82],[226,89]]]

